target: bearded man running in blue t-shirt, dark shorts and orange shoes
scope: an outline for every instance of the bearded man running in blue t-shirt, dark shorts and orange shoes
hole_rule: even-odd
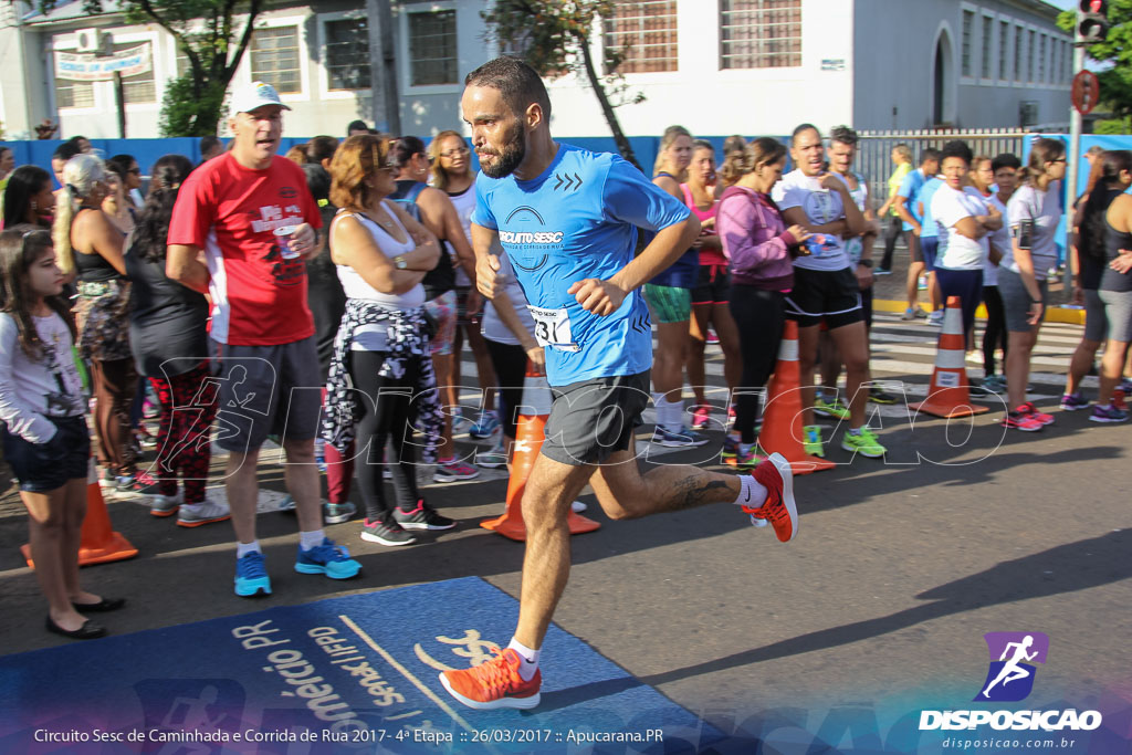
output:
[[[790,465],[779,455],[751,475],[658,466],[642,475],[634,426],[649,402],[652,333],[640,288],[700,233],[681,203],[616,155],[550,137],[550,98],[525,63],[498,58],[464,79],[461,101],[480,158],[472,247],[480,292],[501,291],[503,244],[547,355],[554,407],[523,495],[526,555],[511,644],[440,680],[475,709],[539,704],[539,649],[569,577],[571,503],[590,483],[615,520],[712,503],[770,520],[779,540],[798,530]],[[634,258],[636,228],[655,231]]]

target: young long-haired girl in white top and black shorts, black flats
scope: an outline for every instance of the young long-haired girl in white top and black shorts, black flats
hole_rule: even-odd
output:
[[[126,601],[79,586],[91,436],[51,233],[29,225],[0,233],[0,438],[29,514],[46,628],[76,640],[101,637],[105,628],[83,612],[115,610]]]

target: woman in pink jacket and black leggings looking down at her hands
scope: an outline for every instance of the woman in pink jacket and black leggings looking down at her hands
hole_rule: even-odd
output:
[[[762,461],[754,449],[757,392],[774,371],[786,321],[786,291],[794,285],[792,259],[797,246],[809,235],[800,225],[788,229],[770,198],[784,165],[786,147],[763,137],[728,155],[721,172],[734,186],[720,198],[715,229],[731,268],[729,304],[743,355],[735,427],[723,444],[723,461],[739,467]]]

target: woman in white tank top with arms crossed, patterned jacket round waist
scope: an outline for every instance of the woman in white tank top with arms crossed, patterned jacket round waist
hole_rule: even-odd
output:
[[[331,163],[331,200],[342,208],[331,224],[331,259],[338,265],[346,310],[334,344],[321,436],[343,458],[361,452],[361,538],[403,546],[414,541],[408,530],[455,526],[421,498],[415,447],[409,441],[414,424],[422,428],[423,461],[436,460],[443,418],[421,280],[436,265],[440,247],[420,223],[385,200],[395,185],[385,144],[377,137],[346,139]],[[386,445],[395,501],[387,500],[381,480]],[[329,456],[327,462],[334,463]]]

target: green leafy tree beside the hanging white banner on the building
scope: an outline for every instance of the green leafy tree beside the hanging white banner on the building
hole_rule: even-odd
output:
[[[50,10],[58,0],[40,0]],[[130,24],[156,24],[169,32],[188,68],[165,87],[162,136],[209,136],[224,117],[224,93],[243,58],[265,0],[119,0]],[[102,0],[83,0],[88,14],[102,14]],[[237,16],[246,16],[242,28]]]

